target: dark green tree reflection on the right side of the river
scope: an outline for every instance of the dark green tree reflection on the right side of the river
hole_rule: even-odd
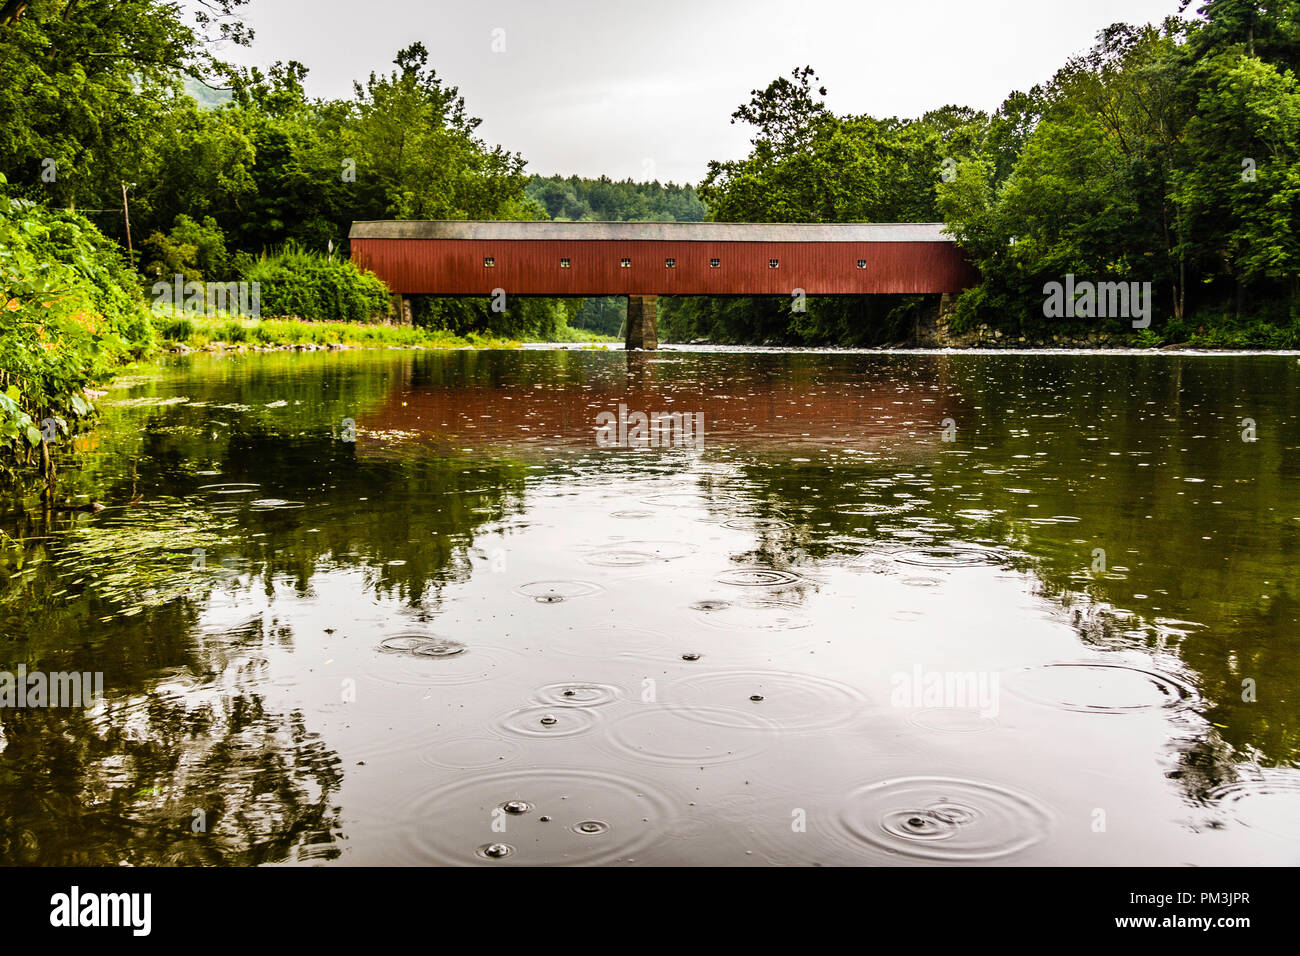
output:
[[[1284,455],[1296,436],[1245,445],[1232,418],[1249,398],[1279,429],[1296,421],[1290,365],[1024,356],[1000,359],[993,375],[988,362],[950,356],[952,389],[980,408],[979,420],[961,420],[958,442],[935,441],[928,460],[744,463],[734,485],[746,499],[734,514],[796,524],[758,535],[745,557],[781,567],[904,541],[1014,550],[1013,563],[1034,572],[1083,645],[1167,653],[1191,675],[1204,722],[1176,731],[1171,771],[1190,796],[1231,779],[1243,760],[1300,761],[1287,691],[1300,685],[1300,580],[1284,557],[1300,542],[1295,464]],[[941,454],[950,450],[965,454]],[[896,503],[898,492],[916,497],[913,507],[861,512]],[[1054,523],[1058,515],[1066,520]],[[1108,574],[1089,571],[1093,548],[1105,548]],[[1248,678],[1254,701],[1243,700]]]

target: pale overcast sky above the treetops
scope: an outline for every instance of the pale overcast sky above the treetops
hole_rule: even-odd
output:
[[[1117,21],[1178,0],[252,0],[243,64],[299,60],[313,96],[393,69],[413,40],[482,137],[529,172],[698,183],[748,151],[749,91],[811,64],[837,113],[996,109]],[[499,31],[499,33],[498,33]],[[502,52],[494,52],[504,47]]]

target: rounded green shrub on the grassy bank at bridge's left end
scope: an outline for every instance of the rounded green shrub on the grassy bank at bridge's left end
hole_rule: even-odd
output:
[[[309,321],[381,321],[389,316],[389,289],[348,259],[334,259],[286,246],[261,259],[247,259],[242,278],[257,282],[261,313]]]

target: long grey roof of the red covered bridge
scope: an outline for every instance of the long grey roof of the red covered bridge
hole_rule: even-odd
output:
[[[350,239],[615,239],[676,242],[953,242],[942,222],[511,222],[370,220]]]

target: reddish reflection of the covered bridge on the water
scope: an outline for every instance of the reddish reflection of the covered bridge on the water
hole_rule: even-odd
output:
[[[517,355],[517,352],[515,352]],[[933,447],[945,416],[961,415],[961,398],[946,386],[946,356],[890,380],[896,369],[845,369],[827,375],[784,368],[741,368],[724,362],[651,359],[629,354],[567,351],[559,368],[542,376],[494,380],[476,369],[474,381],[421,380],[419,365],[381,406],[358,419],[359,440],[384,433],[446,449],[519,451],[526,447],[601,446],[602,412],[619,406],[641,411],[701,415],[703,434],[693,446],[874,447],[890,444]],[[866,375],[863,372],[866,371]],[[459,375],[456,376],[460,377]],[[607,420],[607,419],[606,419]]]

